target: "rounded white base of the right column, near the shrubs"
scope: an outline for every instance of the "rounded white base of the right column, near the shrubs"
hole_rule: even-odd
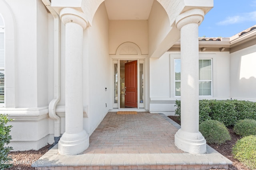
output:
[[[206,140],[199,131],[198,133],[190,133],[179,129],[175,134],[174,144],[178,149],[191,154],[206,153]]]

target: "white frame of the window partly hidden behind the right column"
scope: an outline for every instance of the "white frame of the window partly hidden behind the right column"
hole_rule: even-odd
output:
[[[176,96],[176,82],[181,82],[181,80],[176,80],[176,78],[175,78],[175,60],[180,60],[180,58],[174,58],[174,96],[176,97],[176,98],[180,98],[180,96]],[[212,58],[199,58],[198,59],[198,62],[199,62],[199,60],[211,60],[211,80],[199,80],[198,81],[198,88],[199,88],[199,82],[211,82],[211,86],[210,86],[210,88],[211,88],[211,95],[199,95],[198,94],[198,96],[200,97],[200,98],[202,98],[202,97],[212,97],[212,94],[213,94],[213,89],[212,89],[212,87],[213,87],[213,63],[212,63]],[[198,69],[199,69],[199,66],[198,66]],[[198,74],[199,74],[199,72],[198,72]]]

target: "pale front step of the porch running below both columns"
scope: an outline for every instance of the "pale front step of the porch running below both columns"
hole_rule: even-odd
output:
[[[232,164],[207,146],[207,153],[80,154],[63,156],[54,146],[32,164],[37,170],[207,170]]]

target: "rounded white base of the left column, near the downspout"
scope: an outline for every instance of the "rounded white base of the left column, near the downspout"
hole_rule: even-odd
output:
[[[89,136],[85,130],[80,133],[64,133],[58,144],[59,153],[62,155],[80,154],[89,147]]]

